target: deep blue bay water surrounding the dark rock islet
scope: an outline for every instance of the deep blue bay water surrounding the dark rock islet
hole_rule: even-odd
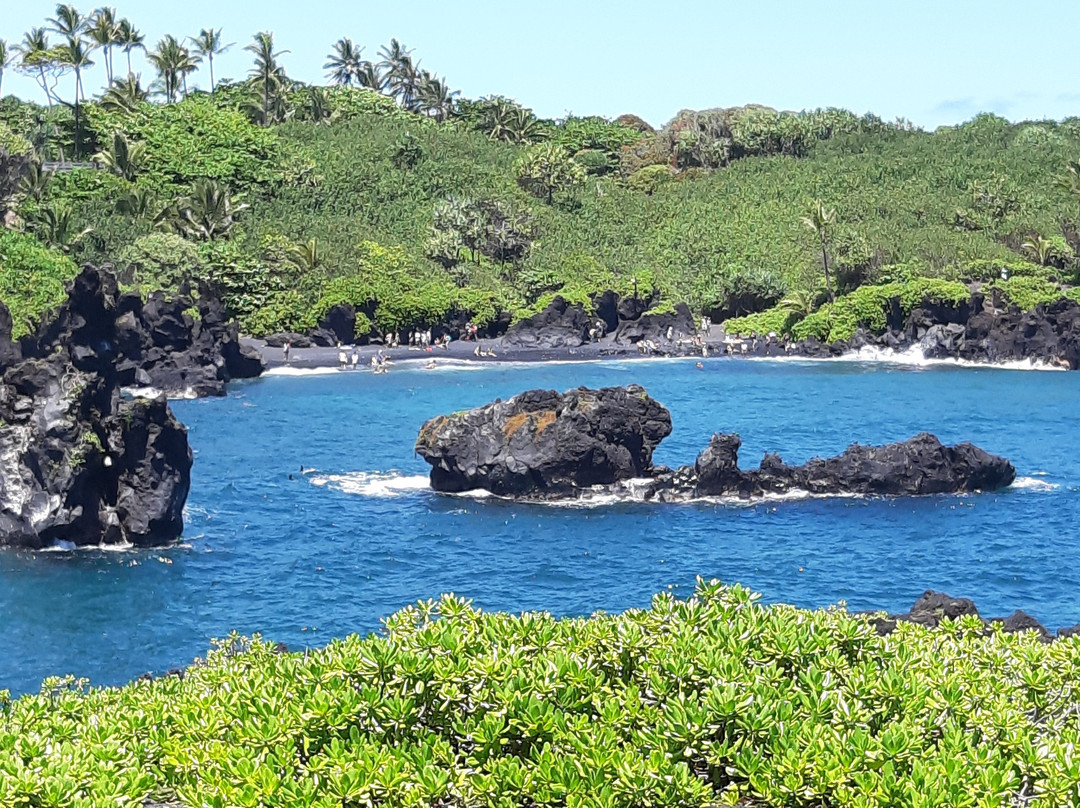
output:
[[[997,494],[594,508],[442,497],[413,454],[429,417],[543,387],[637,382],[671,410],[657,462],[715,431],[788,461],[919,431],[1009,457]],[[454,591],[486,609],[645,606],[696,576],[767,601],[903,609],[924,589],[984,615],[1080,621],[1080,374],[715,360],[266,377],[177,402],[195,452],[186,546],[0,552],[0,689],[72,673],[118,684],[231,630],[293,648],[368,632]],[[299,474],[300,467],[318,471]],[[292,475],[292,476],[291,476]]]

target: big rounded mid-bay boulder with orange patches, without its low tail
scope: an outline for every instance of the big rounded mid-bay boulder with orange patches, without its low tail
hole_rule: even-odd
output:
[[[416,450],[438,491],[570,496],[650,474],[652,450],[671,431],[671,413],[635,385],[530,390],[431,419]]]

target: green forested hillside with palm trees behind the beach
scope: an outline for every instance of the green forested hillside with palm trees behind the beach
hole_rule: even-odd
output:
[[[373,60],[334,43],[325,86],[291,79],[267,31],[247,78],[216,80],[228,46],[212,28],[151,45],[111,9],[69,5],[0,40],[0,67],[46,99],[0,99],[16,334],[84,261],[143,292],[206,284],[254,335],[341,301],[381,332],[615,289],[738,317],[730,331],[835,338],[873,325],[886,294],[1072,294],[1080,119],[924,132],[747,106],[653,130],[461,98],[396,40]]]

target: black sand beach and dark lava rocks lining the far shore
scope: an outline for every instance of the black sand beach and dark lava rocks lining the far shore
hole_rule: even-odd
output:
[[[598,295],[595,314],[580,304],[555,297],[538,314],[505,328],[481,334],[477,341],[460,338],[460,328],[432,329],[434,336],[450,334],[449,348],[431,351],[406,347],[387,348],[382,340],[365,340],[357,347],[366,366],[382,351],[394,361],[441,359],[462,362],[567,362],[648,358],[705,360],[735,359],[845,360],[893,359],[903,363],[942,361],[975,366],[1025,366],[1045,369],[1080,369],[1080,305],[1062,299],[1024,312],[999,295],[972,294],[959,305],[926,299],[904,317],[900,301],[893,301],[883,332],[855,329],[848,340],[823,342],[816,338],[793,340],[778,335],[739,337],[721,326],[701,328],[689,309],[679,305],[666,313],[647,313],[650,300],[619,298],[615,293]],[[281,346],[292,337],[294,368],[325,368],[337,365],[335,322],[350,322],[348,312],[328,318],[318,338],[305,335],[274,335],[269,340],[245,340],[259,351],[269,368],[285,366]],[[355,335],[348,327],[342,345],[352,345]],[[590,332],[593,332],[590,334]],[[477,345],[495,355],[475,355]]]

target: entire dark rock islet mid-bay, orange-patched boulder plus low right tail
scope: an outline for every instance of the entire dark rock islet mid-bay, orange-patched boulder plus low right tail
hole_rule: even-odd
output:
[[[801,466],[766,455],[751,471],[739,468],[739,436],[717,434],[693,466],[653,468],[652,452],[671,429],[667,409],[637,386],[531,390],[433,418],[420,430],[416,450],[431,463],[435,490],[480,488],[526,499],[595,493],[665,502],[793,491],[921,496],[996,490],[1016,476],[1004,458],[970,443],[945,446],[928,433],[885,446],[854,444]]]

